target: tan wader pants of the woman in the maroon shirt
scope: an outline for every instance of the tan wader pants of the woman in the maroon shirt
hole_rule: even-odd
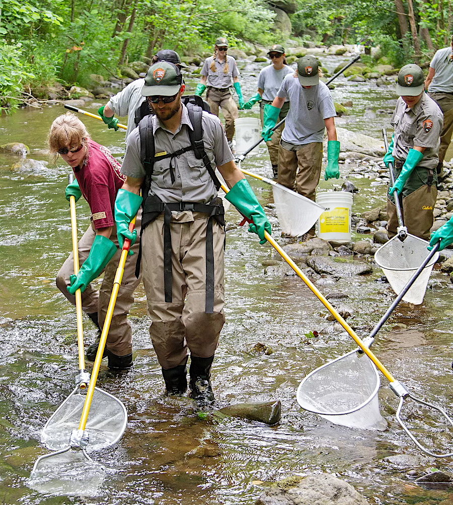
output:
[[[112,322],[110,324],[109,335],[107,337],[106,347],[116,356],[125,356],[132,352],[132,330],[127,314],[133,303],[133,292],[140,283],[140,278],[135,277],[135,264],[139,251],[139,237],[142,211],[139,211],[137,220],[135,221],[135,229],[137,230],[137,241],[131,247],[134,252],[132,256],[128,256],[124,266],[124,274],[121,281],[121,286],[118,291],[115,309],[113,311]],[[96,231],[92,225],[83,234],[78,242],[79,251],[79,267],[88,258],[89,250],[93,245],[96,236]],[[116,238],[116,226],[113,227],[110,240],[118,246]],[[116,269],[118,268],[121,257],[121,250],[116,251],[115,256],[109,261],[104,270],[104,280],[101,284],[101,289],[94,289],[91,284],[86,286],[82,293],[82,311],[87,314],[98,313],[99,325],[103,326],[109,306],[110,296],[112,294],[113,281],[115,279]],[[71,254],[63,263],[60,271],[57,274],[57,287],[68,298],[71,304],[75,305],[75,296],[70,294],[67,287],[71,284],[69,277],[74,273],[74,257]]]

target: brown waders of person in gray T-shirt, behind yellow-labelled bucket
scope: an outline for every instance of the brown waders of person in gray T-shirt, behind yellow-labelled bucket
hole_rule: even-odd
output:
[[[299,146],[294,146],[296,149]],[[279,184],[314,201],[323,163],[323,143],[310,142],[297,150],[279,147]]]

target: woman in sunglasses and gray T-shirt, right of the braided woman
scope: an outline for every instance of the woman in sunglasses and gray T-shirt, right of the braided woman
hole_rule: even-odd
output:
[[[293,74],[294,70],[286,65],[285,49],[280,44],[274,44],[267,55],[272,62],[268,67],[264,67],[258,76],[258,91],[254,94],[248,102],[244,104],[243,109],[251,109],[253,104],[260,102],[260,116],[261,126],[264,126],[264,106],[271,104],[277,96],[277,91],[282,85],[283,79],[288,74]],[[285,98],[277,121],[285,119],[289,111],[290,103],[289,98]],[[277,124],[277,123],[276,123]],[[275,126],[275,125],[274,125]],[[274,179],[278,177],[278,164],[279,164],[279,144],[280,137],[282,136],[284,125],[281,125],[274,131],[270,140],[266,142],[269,151],[270,163],[272,164],[272,171]]]

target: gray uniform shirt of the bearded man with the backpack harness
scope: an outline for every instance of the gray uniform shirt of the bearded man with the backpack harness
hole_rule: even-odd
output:
[[[163,151],[168,154],[174,153],[174,151],[190,145],[187,129],[193,130],[193,127],[185,105],[183,105],[181,124],[175,133],[167,130],[156,116],[152,117],[152,124],[156,154]],[[203,111],[202,127],[204,148],[211,163],[219,166],[234,160],[219,118]],[[165,158],[162,161],[157,158],[154,163],[150,193],[154,193],[165,203],[191,201],[207,204],[217,195],[203,160],[198,160],[193,150],[174,158],[173,167],[175,181],[172,184],[170,158]],[[135,178],[146,176],[140,161],[138,128],[127,137],[126,154],[121,166],[121,173]]]

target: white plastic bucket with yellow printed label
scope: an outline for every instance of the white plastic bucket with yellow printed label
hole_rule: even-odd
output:
[[[349,241],[352,193],[324,191],[316,194],[316,204],[326,209],[318,219],[318,236],[324,240]]]

